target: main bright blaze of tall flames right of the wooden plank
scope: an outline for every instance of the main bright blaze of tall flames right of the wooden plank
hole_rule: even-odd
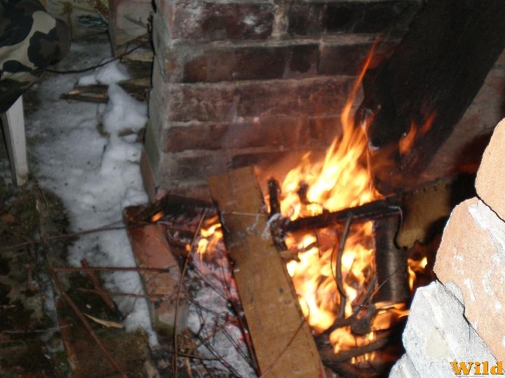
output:
[[[334,139],[323,162],[311,162],[310,155],[307,154],[301,164],[286,175],[281,184],[283,216],[295,219],[320,214],[323,209],[336,211],[356,207],[380,197],[372,188],[370,174],[365,165],[367,125],[356,127],[350,116],[373,52],[372,48],[342,112],[342,137]],[[303,201],[299,195],[301,184],[308,188]],[[314,235],[305,235],[301,239],[290,235],[286,240],[290,249],[301,251],[298,253],[299,261],[288,263],[288,272],[299,295],[304,316],[316,332],[332,327],[337,321],[342,302],[335,272],[335,244],[338,244],[339,237],[341,235],[335,235],[332,243],[318,243]],[[307,250],[307,246],[311,248]],[[345,318],[360,311],[356,304],[363,300],[365,290],[373,278],[373,255],[372,223],[351,227],[341,258]],[[369,334],[356,337],[350,327],[336,328],[330,333],[330,342],[335,353],[368,344],[370,338],[373,339],[374,336]]]

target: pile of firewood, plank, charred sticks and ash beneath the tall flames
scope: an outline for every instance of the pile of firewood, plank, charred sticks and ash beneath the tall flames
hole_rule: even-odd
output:
[[[162,225],[163,237],[179,260],[174,300],[178,332],[170,340],[175,372],[237,377],[384,374],[402,353],[400,333],[410,298],[407,255],[393,242],[402,214],[400,197],[291,220],[280,214],[278,183],[268,183],[267,207],[249,167],[208,182],[214,204],[166,195],[149,207],[126,210],[131,227]],[[370,221],[376,231],[372,244],[381,257],[363,268],[366,280],[361,287],[353,283],[356,295],[349,297],[343,287],[352,275],[344,272],[346,241],[359,236],[355,228]],[[293,287],[286,269],[300,252],[287,239],[307,234],[315,235],[314,242],[304,248],[315,246],[321,255],[329,249],[333,264],[334,314],[324,328],[309,326],[311,305]],[[381,269],[391,262],[392,268]],[[335,335],[351,341],[336,348]]]

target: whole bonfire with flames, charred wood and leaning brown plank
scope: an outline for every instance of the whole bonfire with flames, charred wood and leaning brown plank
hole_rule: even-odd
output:
[[[363,72],[371,57],[372,52]],[[342,137],[333,141],[325,159],[311,162],[307,154],[281,184],[269,181],[269,198],[265,201],[270,204],[268,221],[252,169],[209,180],[222,224],[217,217],[206,220],[199,232],[200,260],[195,255],[191,258],[196,266],[213,255],[224,261],[223,256],[229,253],[263,373],[283,376],[292,372],[298,361],[304,361],[302,365],[310,370],[304,375],[320,373],[314,353],[311,357],[298,354],[300,348],[311,353],[314,348],[309,342],[309,328],[294,311],[297,305],[324,351],[324,363],[340,371],[354,369],[344,367],[344,360],[355,367],[364,364],[372,369],[387,365],[384,360],[389,355],[386,353],[381,360],[377,349],[388,344],[392,330],[408,313],[407,256],[393,244],[396,224],[391,221],[402,214],[402,197],[384,198],[372,186],[366,159],[366,125],[355,127],[350,116],[359,85],[358,80],[342,111]],[[188,244],[184,235],[189,231],[182,231],[195,228],[184,226],[181,220],[195,218],[202,209],[212,209],[215,214],[215,208],[205,202],[168,196],[137,215],[144,222],[160,222],[177,230],[166,232],[173,238],[171,243],[179,238],[182,244]],[[375,220],[375,232],[371,220]],[[381,237],[383,228],[386,232]],[[228,251],[224,250],[223,236]],[[290,252],[292,258],[285,267],[272,244]],[[284,269],[291,276],[296,294],[285,283]],[[209,275],[213,272],[210,268]],[[227,294],[236,290],[228,274],[223,273]],[[208,281],[206,274],[201,276]],[[403,288],[393,287],[396,285]],[[277,318],[280,314],[281,325]],[[201,327],[207,332],[206,325]],[[272,337],[279,335],[277,332],[281,336]]]

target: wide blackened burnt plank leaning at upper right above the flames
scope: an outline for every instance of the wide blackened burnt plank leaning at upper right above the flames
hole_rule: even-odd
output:
[[[450,136],[505,47],[505,1],[429,0],[393,55],[363,81],[375,181],[383,194],[415,182]],[[435,114],[429,130],[422,125]],[[410,151],[391,146],[417,125]],[[373,169],[396,156],[394,169]]]

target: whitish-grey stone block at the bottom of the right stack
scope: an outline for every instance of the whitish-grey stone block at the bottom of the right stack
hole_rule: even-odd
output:
[[[406,354],[393,366],[390,377],[454,377],[452,361],[496,364],[466,321],[458,288],[447,286],[434,281],[417,289],[403,332]]]

